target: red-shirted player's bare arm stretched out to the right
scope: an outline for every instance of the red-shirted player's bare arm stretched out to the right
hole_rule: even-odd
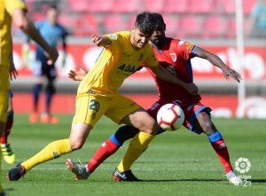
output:
[[[234,80],[240,82],[242,80],[241,75],[235,71],[234,69],[231,69],[230,67],[227,67],[224,63],[223,60],[220,59],[217,55],[206,51],[200,47],[197,48],[195,51],[195,55],[197,57],[200,57],[202,59],[207,59],[210,63],[212,63],[215,67],[219,67],[223,71],[224,77],[229,80],[229,78],[233,78]]]

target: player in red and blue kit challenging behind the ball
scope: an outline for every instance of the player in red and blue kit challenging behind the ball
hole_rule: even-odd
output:
[[[167,68],[171,74],[175,75],[185,83],[193,83],[191,59],[193,57],[199,57],[207,59],[215,65],[215,67],[219,67],[223,71],[223,75],[226,79],[231,77],[239,82],[241,79],[240,74],[227,67],[215,54],[205,51],[192,43],[167,37],[165,35],[166,25],[162,16],[158,13],[154,13],[154,16],[157,18],[158,23],[151,39],[153,51],[156,59],[160,62],[160,65]],[[223,168],[229,182],[232,184],[241,184],[241,179],[234,173],[231,167],[230,156],[223,137],[211,121],[211,108],[203,106],[200,103],[201,97],[199,94],[192,95],[192,93],[185,90],[183,87],[169,82],[164,82],[160,80],[160,78],[156,77],[152,71],[150,72],[157,84],[159,99],[147,110],[147,112],[156,119],[160,106],[168,103],[175,103],[176,105],[181,106],[185,115],[184,127],[191,129],[197,134],[205,133],[215,150],[215,153],[217,153],[219,160],[223,164]],[[73,73],[71,77],[74,78],[74,76],[75,75]],[[100,163],[115,153],[124,141],[134,137],[138,131],[139,130],[130,126],[124,126],[118,129],[116,133],[114,133],[98,148],[98,151],[87,164],[87,169],[90,170],[90,173],[92,173]],[[158,134],[161,132],[164,132],[164,130],[158,130]],[[113,171],[114,180],[136,180],[135,176],[132,177],[128,175],[132,174],[130,170],[129,173],[127,171],[121,172],[121,170],[123,169],[122,164],[120,163],[120,165]]]

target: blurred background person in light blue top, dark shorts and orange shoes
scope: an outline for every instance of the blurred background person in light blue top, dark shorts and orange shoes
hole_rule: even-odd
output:
[[[39,30],[43,38],[52,47],[57,47],[59,40],[62,40],[63,46],[63,65],[66,59],[66,29],[58,23],[58,9],[55,6],[48,8],[46,13],[46,20],[36,22],[35,27]],[[28,44],[28,43],[27,43]],[[26,47],[29,49],[29,47]],[[25,52],[24,53],[28,53]],[[59,119],[51,115],[51,101],[56,92],[55,79],[56,79],[56,68],[54,64],[47,64],[47,57],[44,54],[43,49],[36,45],[36,56],[35,63],[33,65],[33,74],[35,76],[35,84],[33,88],[33,100],[34,108],[33,113],[29,116],[29,122],[35,123],[39,121],[39,98],[43,89],[43,76],[47,78],[47,85],[45,88],[45,109],[41,115],[41,122],[43,123],[58,123]]]

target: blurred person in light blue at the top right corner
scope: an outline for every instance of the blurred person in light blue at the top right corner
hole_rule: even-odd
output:
[[[266,37],[266,0],[257,0],[248,22],[251,37]]]

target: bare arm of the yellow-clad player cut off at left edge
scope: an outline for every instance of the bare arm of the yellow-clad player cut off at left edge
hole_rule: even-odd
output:
[[[38,30],[35,28],[33,22],[27,17],[25,10],[20,8],[14,10],[12,12],[12,20],[17,27],[20,27],[25,34],[43,48],[45,54],[49,59],[51,59],[52,63],[58,59],[59,52],[45,42],[42,35],[40,35]]]

